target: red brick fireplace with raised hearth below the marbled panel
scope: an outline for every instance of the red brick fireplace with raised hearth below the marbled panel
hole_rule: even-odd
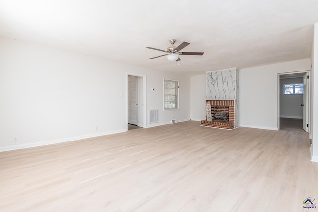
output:
[[[202,126],[217,127],[224,129],[233,129],[235,127],[235,110],[234,100],[206,100],[206,103],[211,104],[211,115],[212,121],[205,120],[201,121]],[[215,113],[228,114],[228,120],[217,119]]]

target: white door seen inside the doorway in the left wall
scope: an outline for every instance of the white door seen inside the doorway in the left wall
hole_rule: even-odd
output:
[[[128,78],[128,124],[138,123],[137,77]]]

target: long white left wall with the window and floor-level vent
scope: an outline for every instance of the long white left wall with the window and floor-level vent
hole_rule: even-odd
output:
[[[190,119],[187,75],[0,37],[0,151],[125,131],[127,72],[147,76],[159,125]],[[179,110],[163,111],[163,78],[180,81]]]

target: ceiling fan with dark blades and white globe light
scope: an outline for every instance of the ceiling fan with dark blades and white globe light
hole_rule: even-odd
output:
[[[154,50],[158,50],[158,51],[167,53],[167,54],[160,55],[160,56],[153,57],[153,58],[149,58],[149,59],[159,58],[159,57],[166,55],[169,61],[180,61],[181,59],[179,58],[179,55],[203,55],[203,53],[204,53],[204,52],[179,52],[181,49],[183,49],[184,47],[186,47],[190,43],[183,42],[179,46],[174,46],[175,39],[170,39],[170,43],[172,44],[172,46],[169,46],[167,48],[167,50],[156,49],[153,47],[146,47],[148,49],[154,49]]]

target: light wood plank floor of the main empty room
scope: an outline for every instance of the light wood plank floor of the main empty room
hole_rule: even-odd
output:
[[[304,212],[307,197],[304,131],[188,121],[0,153],[1,212]]]

